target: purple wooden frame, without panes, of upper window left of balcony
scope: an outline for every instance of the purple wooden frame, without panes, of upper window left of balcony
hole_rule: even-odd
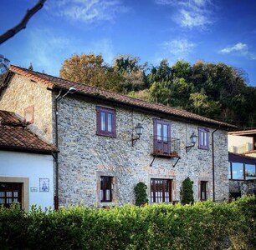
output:
[[[116,114],[115,110],[108,107],[96,107],[96,134],[100,136],[116,138]],[[105,130],[101,129],[101,114],[105,112]],[[108,131],[108,114],[111,114],[111,132]]]

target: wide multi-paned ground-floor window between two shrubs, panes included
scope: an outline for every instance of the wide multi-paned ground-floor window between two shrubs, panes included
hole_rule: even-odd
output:
[[[151,203],[170,203],[172,201],[171,180],[151,179]]]

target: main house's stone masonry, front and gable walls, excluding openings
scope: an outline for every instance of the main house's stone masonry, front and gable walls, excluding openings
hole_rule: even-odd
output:
[[[13,86],[15,84],[15,87]],[[43,84],[15,75],[0,100],[0,108],[23,115],[24,108],[34,106],[33,131],[49,142],[54,138],[55,93]],[[12,97],[12,100],[10,100]],[[96,135],[96,107],[110,107],[116,112],[116,138]],[[172,180],[172,201],[179,201],[182,181],[193,181],[194,198],[200,197],[200,182],[207,182],[207,198],[212,198],[212,133],[215,128],[197,122],[179,121],[156,112],[146,112],[115,102],[68,95],[59,107],[59,204],[81,203],[109,206],[134,203],[136,183],[146,183],[151,196],[151,178]],[[153,119],[171,122],[171,137],[181,140],[181,159],[156,158],[152,163]],[[140,122],[144,131],[134,147],[132,133]],[[198,128],[210,132],[209,150],[196,144],[186,153],[186,145]],[[152,163],[152,166],[151,166]],[[215,198],[228,198],[227,132],[214,132]],[[100,203],[100,176],[112,177],[112,203]]]

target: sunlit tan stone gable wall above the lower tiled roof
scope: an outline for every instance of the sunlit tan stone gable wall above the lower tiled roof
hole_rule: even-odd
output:
[[[28,128],[49,143],[53,143],[52,92],[44,84],[15,74],[0,97],[0,109],[24,117],[27,107],[33,107],[33,124]]]

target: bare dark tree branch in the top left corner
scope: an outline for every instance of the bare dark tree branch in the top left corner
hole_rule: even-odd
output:
[[[26,25],[30,18],[33,17],[35,13],[38,12],[43,6],[44,2],[46,0],[38,0],[38,3],[31,9],[28,9],[27,13],[23,17],[20,23],[16,25],[15,27],[9,29],[7,32],[3,33],[3,35],[0,36],[0,44],[8,40],[9,38],[13,37],[16,33],[20,32],[23,28],[26,28]]]

